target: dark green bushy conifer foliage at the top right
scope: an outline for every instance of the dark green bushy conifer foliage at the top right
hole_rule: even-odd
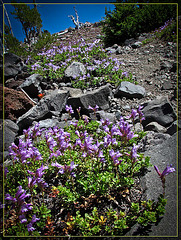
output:
[[[117,1],[120,2],[122,1]],[[126,39],[135,38],[139,33],[153,31],[168,19],[176,19],[176,5],[121,3],[115,4],[112,12],[106,10],[105,15],[105,45],[121,44]]]

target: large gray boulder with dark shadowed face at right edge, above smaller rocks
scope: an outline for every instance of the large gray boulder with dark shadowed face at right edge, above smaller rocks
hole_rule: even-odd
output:
[[[169,126],[176,120],[176,113],[170,104],[168,97],[158,97],[153,101],[145,104],[143,108],[145,120],[143,125],[150,122],[157,122],[162,126]]]

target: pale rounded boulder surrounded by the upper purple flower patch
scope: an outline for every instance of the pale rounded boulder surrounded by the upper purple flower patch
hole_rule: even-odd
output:
[[[86,74],[86,69],[84,65],[80,62],[73,62],[68,68],[65,70],[66,78],[73,78],[74,76],[81,76]]]

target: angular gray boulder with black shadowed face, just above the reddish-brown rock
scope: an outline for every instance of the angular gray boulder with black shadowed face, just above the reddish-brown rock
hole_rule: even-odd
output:
[[[42,92],[40,87],[42,79],[43,77],[39,74],[33,74],[26,78],[19,87],[21,87],[31,98],[36,98],[38,94]]]

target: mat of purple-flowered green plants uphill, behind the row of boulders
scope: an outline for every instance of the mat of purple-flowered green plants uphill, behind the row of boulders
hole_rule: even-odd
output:
[[[77,44],[58,45],[56,37],[47,36],[46,39],[40,39],[37,43],[38,48],[45,44],[42,51],[34,51],[31,56],[36,61],[35,64],[29,65],[31,73],[38,73],[48,79],[64,80],[64,72],[73,61],[86,64],[87,71],[85,75],[74,76],[71,79],[72,87],[87,89],[88,87],[99,87],[106,83],[111,83],[115,87],[122,81],[133,81],[132,74],[124,75],[120,68],[121,62],[110,57],[102,48],[102,44],[97,41],[88,44],[85,41],[77,41]],[[36,46],[36,44],[35,44]],[[34,46],[34,48],[35,48]],[[76,54],[76,56],[75,56]]]

